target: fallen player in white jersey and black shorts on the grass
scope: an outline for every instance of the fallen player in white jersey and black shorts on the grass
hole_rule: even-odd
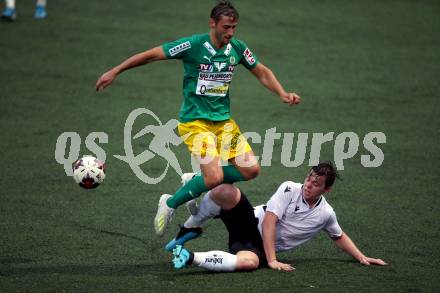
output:
[[[203,198],[166,249],[173,250],[174,267],[189,264],[212,271],[254,270],[269,266],[292,271],[294,267],[277,259],[277,253],[293,249],[324,230],[340,249],[363,265],[386,265],[365,256],[344,233],[336,214],[324,197],[337,172],[331,163],[311,168],[303,184],[286,181],[265,205],[252,208],[246,196],[230,184],[220,185]],[[201,234],[209,218],[219,216],[229,232],[229,252],[189,252],[183,244]]]

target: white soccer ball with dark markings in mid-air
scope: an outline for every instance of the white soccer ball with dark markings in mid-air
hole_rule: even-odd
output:
[[[93,156],[84,156],[73,164],[73,179],[79,186],[98,187],[105,178],[105,165]]]

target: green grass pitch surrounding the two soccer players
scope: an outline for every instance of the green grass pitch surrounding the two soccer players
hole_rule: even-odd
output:
[[[344,162],[343,181],[328,196],[342,228],[367,255],[388,267],[363,267],[320,234],[280,254],[296,271],[261,269],[215,274],[175,271],[163,249],[186,212],[180,208],[163,239],[153,232],[160,194],[179,177],[169,171],[147,185],[113,155],[124,153],[123,128],[135,108],[163,121],[176,118],[182,66],[160,62],[119,76],[102,93],[101,73],[126,57],[208,30],[213,1],[48,1],[48,18],[33,19],[34,3],[18,1],[14,23],[0,23],[0,291],[1,292],[433,292],[440,286],[438,180],[440,162],[440,5],[438,1],[239,1],[236,36],[245,40],[286,89],[302,96],[282,104],[246,70],[231,87],[232,116],[261,134],[355,132],[386,134],[378,168],[358,153]],[[3,8],[3,6],[2,6]],[[142,124],[144,123],[144,124]],[[148,121],[138,121],[142,127]],[[77,132],[81,155],[93,131],[108,134],[107,179],[83,190],[55,161],[55,144]],[[334,142],[321,159],[333,160]],[[310,141],[309,141],[310,146]],[[136,152],[146,141],[136,141]],[[262,144],[253,148],[261,155]],[[189,154],[173,148],[184,170]],[[309,151],[309,149],[308,149]],[[240,183],[262,203],[285,180],[302,181],[280,163]],[[163,170],[155,158],[149,174]],[[227,249],[220,221],[188,244]]]

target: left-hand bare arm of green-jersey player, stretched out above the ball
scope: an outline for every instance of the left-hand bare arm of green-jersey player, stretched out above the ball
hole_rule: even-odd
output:
[[[113,80],[115,80],[116,76],[119,73],[127,69],[164,59],[166,59],[166,56],[161,46],[154,47],[145,52],[131,56],[118,66],[110,69],[109,71],[101,75],[101,77],[96,82],[96,91],[100,91],[108,87],[113,82]]]

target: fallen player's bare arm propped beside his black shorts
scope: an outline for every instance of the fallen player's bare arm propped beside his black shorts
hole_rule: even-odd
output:
[[[277,260],[275,252],[275,234],[278,217],[272,212],[266,212],[263,220],[263,245],[266,253],[267,265],[274,270],[293,271],[295,268],[290,264]]]

